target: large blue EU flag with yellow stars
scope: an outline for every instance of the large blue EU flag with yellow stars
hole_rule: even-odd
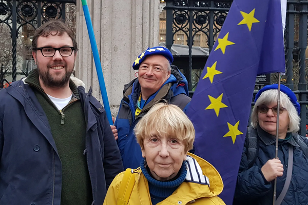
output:
[[[285,7],[285,0],[234,0],[187,110],[196,154],[221,174],[226,204],[233,201],[256,76],[285,70]]]

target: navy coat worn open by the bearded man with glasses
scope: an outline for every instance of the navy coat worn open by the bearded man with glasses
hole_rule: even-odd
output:
[[[78,87],[86,118],[86,147],[93,203],[101,205],[123,171],[104,108]],[[59,205],[62,165],[48,119],[22,80],[0,91],[0,205]],[[65,204],[64,204],[65,205]]]

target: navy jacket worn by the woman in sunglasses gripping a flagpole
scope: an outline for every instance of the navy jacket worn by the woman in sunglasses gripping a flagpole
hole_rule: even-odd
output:
[[[273,204],[274,180],[267,182],[261,168],[269,159],[275,158],[276,139],[273,135],[257,128],[259,151],[256,161],[248,168],[246,146],[242,153],[240,169],[237,178],[234,205],[271,205]],[[247,140],[245,140],[245,143]],[[278,157],[283,165],[283,176],[277,178],[277,198],[280,195],[286,179],[288,146],[293,146],[293,172],[290,186],[281,205],[308,204],[308,159],[301,151],[293,136],[286,141],[279,141]]]

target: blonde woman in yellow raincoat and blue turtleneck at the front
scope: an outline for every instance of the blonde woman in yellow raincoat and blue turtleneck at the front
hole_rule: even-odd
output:
[[[104,205],[225,204],[217,170],[188,153],[195,129],[180,108],[157,104],[134,131],[144,159],[114,178]]]

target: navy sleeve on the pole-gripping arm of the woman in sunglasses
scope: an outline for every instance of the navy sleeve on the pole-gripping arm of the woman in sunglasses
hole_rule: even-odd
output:
[[[236,183],[235,200],[252,200],[264,196],[267,192],[271,191],[271,188],[272,183],[266,181],[261,172],[261,167],[254,164],[253,167],[248,169],[246,146],[244,146]]]

